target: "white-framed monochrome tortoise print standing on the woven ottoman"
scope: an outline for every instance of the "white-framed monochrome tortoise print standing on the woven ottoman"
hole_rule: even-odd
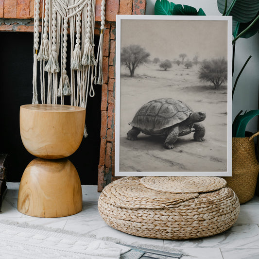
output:
[[[115,176],[231,176],[232,18],[116,22]]]

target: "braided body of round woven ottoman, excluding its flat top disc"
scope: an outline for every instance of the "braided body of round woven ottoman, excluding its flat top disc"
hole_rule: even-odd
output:
[[[135,198],[140,197],[141,202],[136,201],[136,207],[134,200],[129,203],[129,196],[125,196],[125,204],[127,206],[132,204],[131,208],[126,208],[125,205],[121,206],[124,191],[121,192],[123,194],[119,194],[116,190],[120,188],[116,189],[113,186],[122,186],[124,182],[127,185],[130,181],[136,182],[133,184],[132,193],[134,189],[137,190]],[[166,199],[170,199],[168,195],[172,193],[160,191],[156,199],[155,192],[151,192],[152,198],[149,199],[145,197],[148,196],[148,190],[141,196],[138,190],[144,187],[135,187],[138,185],[141,185],[138,177],[125,177],[104,188],[98,201],[98,209],[106,224],[131,235],[177,240],[219,234],[230,228],[238,218],[240,203],[236,194],[228,187],[201,193],[197,197],[177,204],[175,201],[169,204],[169,200]],[[126,188],[128,189],[130,187]],[[113,190],[112,195],[110,190]],[[128,193],[131,193],[131,190],[128,190]],[[117,195],[120,198],[117,198]],[[163,195],[166,197],[165,200],[162,198]],[[153,199],[155,208],[150,208]],[[160,208],[158,208],[159,201],[162,201]]]

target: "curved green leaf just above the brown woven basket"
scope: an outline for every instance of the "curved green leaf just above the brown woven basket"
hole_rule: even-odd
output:
[[[232,132],[233,132],[232,137],[244,138],[245,128],[247,123],[258,115],[259,115],[259,110],[251,110],[249,112],[246,112],[243,115],[237,116],[232,125]]]

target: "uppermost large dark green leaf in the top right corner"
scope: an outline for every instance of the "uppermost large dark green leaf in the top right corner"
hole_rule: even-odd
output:
[[[259,0],[227,0],[227,9],[231,3],[235,1],[228,16],[232,16],[233,20],[238,22],[249,22],[259,12]],[[225,0],[218,0],[218,9],[223,14],[225,8]]]

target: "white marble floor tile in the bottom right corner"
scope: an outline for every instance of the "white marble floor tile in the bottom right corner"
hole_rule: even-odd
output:
[[[259,249],[221,248],[223,259],[259,259]]]

